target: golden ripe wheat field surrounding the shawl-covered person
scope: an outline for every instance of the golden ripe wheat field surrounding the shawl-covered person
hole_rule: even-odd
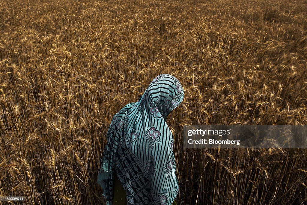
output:
[[[182,139],[184,124],[307,124],[306,8],[0,0],[0,195],[104,204],[96,179],[111,118],[169,73],[185,92],[167,121],[178,204],[306,204],[305,149],[193,150]]]

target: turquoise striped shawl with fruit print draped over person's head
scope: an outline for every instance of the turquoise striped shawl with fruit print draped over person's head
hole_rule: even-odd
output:
[[[169,74],[153,79],[142,97],[126,104],[111,121],[97,183],[113,201],[115,171],[127,204],[170,205],[178,194],[169,113],[183,101],[180,82]]]

